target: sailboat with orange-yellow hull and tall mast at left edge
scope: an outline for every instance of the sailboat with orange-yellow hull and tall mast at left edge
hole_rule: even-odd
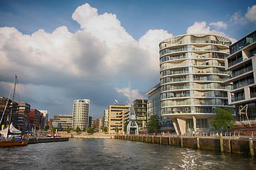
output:
[[[10,118],[9,118],[9,125],[8,125],[8,128],[0,131],[0,133],[1,133],[0,147],[16,147],[16,146],[28,145],[28,136],[23,135],[23,133],[21,133],[20,130],[17,130],[14,127],[14,125],[11,123],[11,118],[12,118],[12,114],[14,111],[14,95],[15,95],[15,89],[16,89],[16,81],[17,81],[17,76],[15,75],[14,94],[13,94],[13,98],[12,98],[12,106],[11,106],[11,114],[10,114]],[[8,98],[8,101],[9,101],[9,98]],[[7,103],[8,103],[8,101],[7,101]],[[7,106],[7,104],[6,104],[6,106]],[[4,113],[5,113],[5,110],[4,110]],[[2,115],[2,118],[4,116],[4,113]],[[0,122],[0,124],[1,124],[1,122]]]

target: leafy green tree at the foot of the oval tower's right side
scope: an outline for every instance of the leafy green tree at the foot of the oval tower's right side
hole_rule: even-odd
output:
[[[218,107],[215,110],[215,113],[215,118],[210,122],[210,125],[213,125],[215,130],[225,129],[228,132],[228,128],[232,128],[234,126],[232,109]]]

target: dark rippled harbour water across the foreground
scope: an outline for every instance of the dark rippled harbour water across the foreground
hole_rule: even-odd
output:
[[[255,157],[129,140],[70,139],[0,148],[0,169],[256,169]]]

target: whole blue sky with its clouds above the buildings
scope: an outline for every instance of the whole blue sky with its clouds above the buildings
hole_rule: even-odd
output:
[[[90,115],[147,98],[159,83],[159,42],[213,33],[232,42],[256,28],[256,1],[0,0],[0,96],[53,115]]]

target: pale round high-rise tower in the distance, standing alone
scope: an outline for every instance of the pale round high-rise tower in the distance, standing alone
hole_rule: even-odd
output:
[[[75,100],[73,103],[72,128],[79,127],[81,130],[88,127],[90,100]]]

